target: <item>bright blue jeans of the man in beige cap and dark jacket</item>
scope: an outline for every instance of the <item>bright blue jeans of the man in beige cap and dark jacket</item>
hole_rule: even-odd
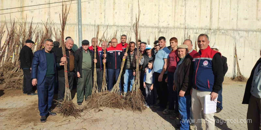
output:
[[[190,128],[190,107],[191,107],[191,95],[184,97],[178,97],[179,99],[179,113],[181,115],[180,129],[188,130]]]

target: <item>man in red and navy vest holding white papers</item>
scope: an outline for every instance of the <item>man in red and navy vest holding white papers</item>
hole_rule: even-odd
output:
[[[219,90],[224,80],[221,53],[214,51],[209,46],[209,36],[198,36],[198,53],[193,55],[193,88],[191,89],[192,113],[195,119],[195,129],[202,128],[201,111],[204,109],[205,95],[210,95],[210,100],[217,100]],[[204,113],[206,130],[215,129],[214,113]]]

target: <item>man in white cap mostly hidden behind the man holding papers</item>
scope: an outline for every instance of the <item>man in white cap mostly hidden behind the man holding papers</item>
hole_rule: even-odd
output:
[[[214,50],[214,51],[217,51],[217,52],[219,51],[219,47],[216,46],[216,45],[213,45],[211,47],[211,49]],[[225,76],[225,74],[227,73],[227,70],[228,70],[227,58],[225,56],[221,56],[221,58],[222,58],[222,64],[223,64],[223,73],[224,73],[224,76]],[[223,109],[223,107],[222,107],[222,88],[218,92],[217,100],[220,102],[220,103],[217,102],[217,113],[219,113]]]

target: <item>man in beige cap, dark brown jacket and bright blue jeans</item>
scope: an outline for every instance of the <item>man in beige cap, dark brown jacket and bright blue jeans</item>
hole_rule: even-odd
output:
[[[180,129],[189,129],[190,107],[192,87],[193,64],[192,57],[188,54],[187,45],[178,47],[179,62],[174,73],[173,90],[177,92],[179,102],[179,113],[181,115]]]

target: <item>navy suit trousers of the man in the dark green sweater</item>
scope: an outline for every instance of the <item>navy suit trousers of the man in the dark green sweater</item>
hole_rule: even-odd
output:
[[[54,80],[53,77],[45,77],[41,85],[37,85],[38,107],[40,116],[47,116],[52,106],[52,99],[54,94]]]

